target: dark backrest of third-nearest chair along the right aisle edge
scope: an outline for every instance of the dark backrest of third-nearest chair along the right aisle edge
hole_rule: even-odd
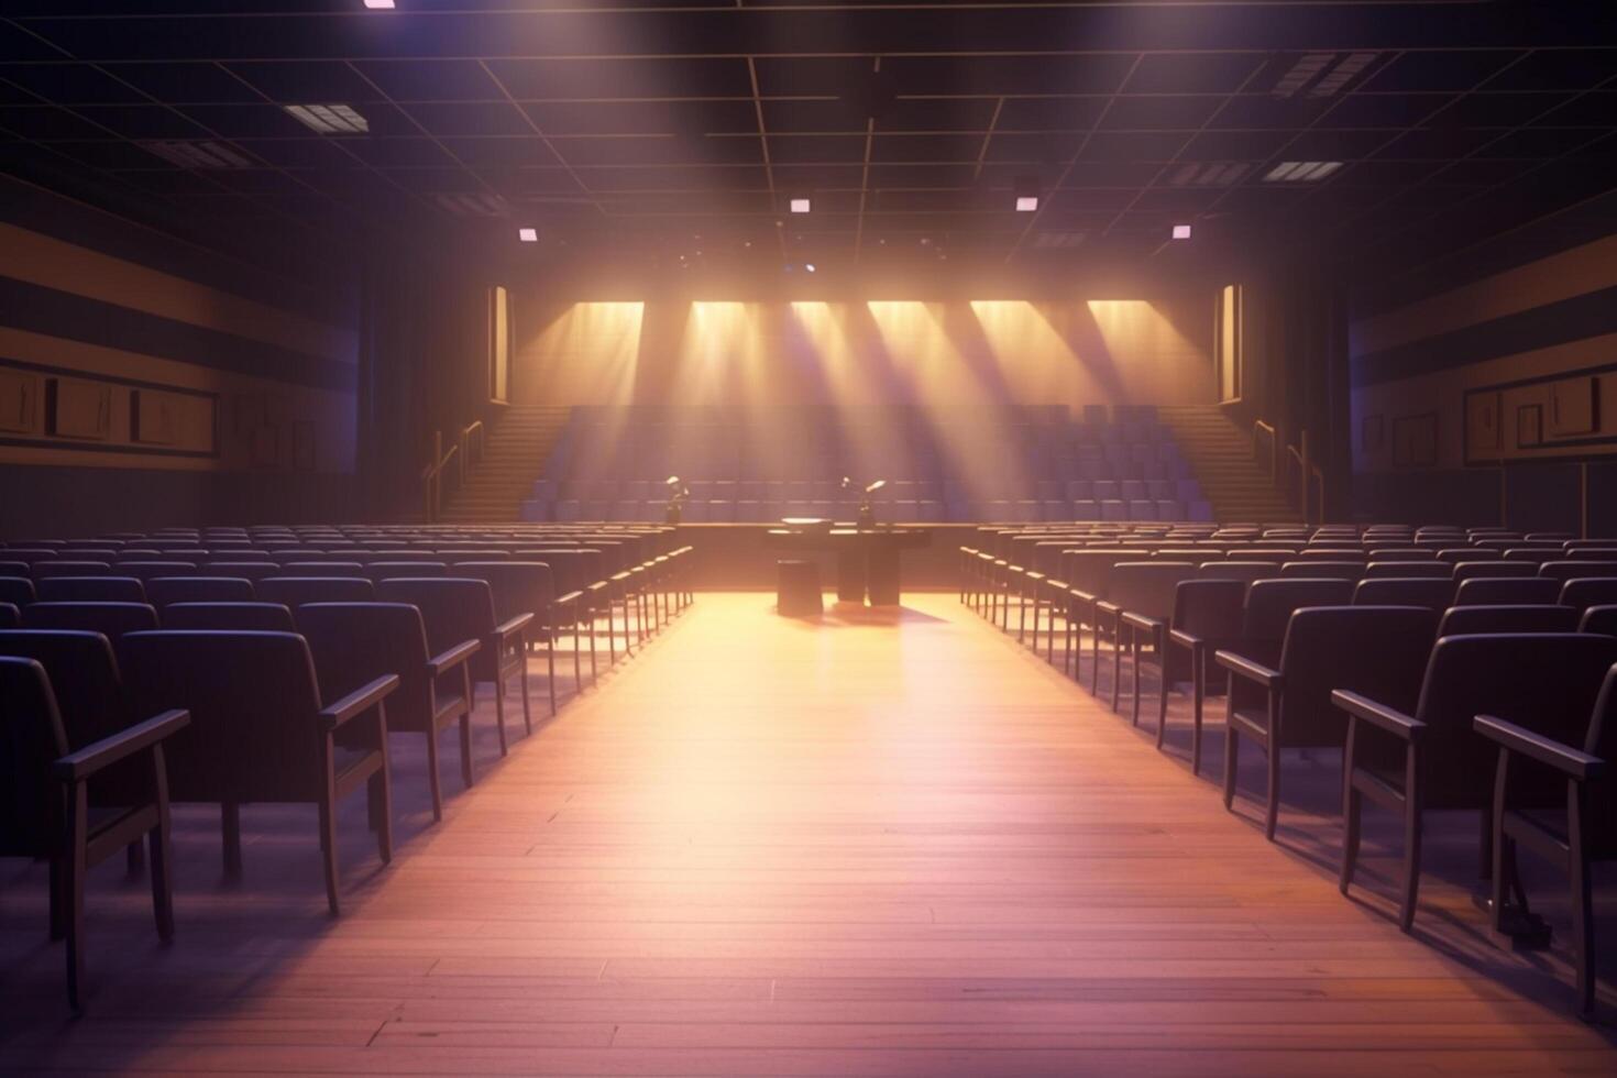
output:
[[[1286,692],[1279,743],[1344,745],[1347,718],[1331,703],[1337,688],[1400,711],[1413,708],[1436,637],[1438,613],[1425,606],[1308,606],[1294,613],[1281,646]]]

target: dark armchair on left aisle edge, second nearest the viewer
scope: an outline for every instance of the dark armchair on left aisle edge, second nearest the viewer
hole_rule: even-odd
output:
[[[241,873],[241,805],[314,803],[327,905],[336,915],[336,810],[361,787],[377,852],[383,863],[393,860],[385,732],[396,676],[322,706],[309,645],[296,634],[136,632],[123,651],[136,713],[191,713],[168,755],[170,795],[222,806],[226,873]]]

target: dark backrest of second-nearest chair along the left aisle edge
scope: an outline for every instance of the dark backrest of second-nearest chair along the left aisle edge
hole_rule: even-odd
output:
[[[285,632],[136,632],[123,638],[136,714],[191,711],[167,742],[179,802],[310,802],[323,787],[320,690]]]

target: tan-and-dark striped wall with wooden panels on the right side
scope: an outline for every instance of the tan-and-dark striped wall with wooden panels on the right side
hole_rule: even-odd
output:
[[[1360,517],[1617,535],[1617,234],[1509,236],[1350,338]]]

